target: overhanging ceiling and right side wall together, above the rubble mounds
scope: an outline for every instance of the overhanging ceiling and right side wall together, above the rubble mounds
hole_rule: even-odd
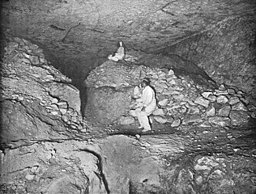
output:
[[[2,2],[2,29],[41,44],[79,89],[81,80],[123,40],[130,50],[174,52],[215,81],[252,92],[254,7],[250,0],[10,0]]]

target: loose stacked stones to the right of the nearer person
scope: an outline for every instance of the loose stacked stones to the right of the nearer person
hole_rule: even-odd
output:
[[[173,70],[166,72],[147,68],[146,76],[156,90],[160,107],[150,116],[151,121],[171,123],[173,127],[180,124],[210,127],[239,125],[250,118],[241,91],[221,85],[215,91],[202,93],[186,78],[177,78]],[[130,111],[130,116],[134,116],[134,111]],[[122,123],[127,122],[131,123],[132,119],[127,117]]]

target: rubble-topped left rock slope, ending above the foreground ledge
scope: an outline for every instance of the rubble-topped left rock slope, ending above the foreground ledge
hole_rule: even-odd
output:
[[[31,52],[26,54],[28,49]],[[67,138],[68,133],[63,133],[66,126],[62,123],[62,115],[70,116],[71,120],[71,113],[79,112],[79,91],[70,86],[69,78],[48,65],[46,60],[37,65],[32,61],[23,61],[36,52],[36,55],[45,58],[36,44],[12,38],[5,50],[1,71],[2,141],[9,146],[22,146],[32,139],[44,140],[49,136]],[[62,89],[65,91],[59,94]],[[61,111],[60,107],[66,111]],[[81,119],[80,112],[77,114]]]

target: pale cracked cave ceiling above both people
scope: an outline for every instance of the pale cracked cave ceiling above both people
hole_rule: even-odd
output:
[[[118,40],[154,53],[254,11],[254,0],[10,0],[2,2],[2,28],[62,60],[83,61],[106,57]]]

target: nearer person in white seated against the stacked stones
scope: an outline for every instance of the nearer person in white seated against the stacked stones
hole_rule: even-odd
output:
[[[135,110],[135,114],[138,117],[140,124],[139,129],[143,129],[143,132],[151,131],[151,124],[148,116],[156,109],[156,94],[149,84],[149,79],[144,78],[141,83],[143,89],[142,95],[140,96],[140,99],[142,100],[141,106]]]

